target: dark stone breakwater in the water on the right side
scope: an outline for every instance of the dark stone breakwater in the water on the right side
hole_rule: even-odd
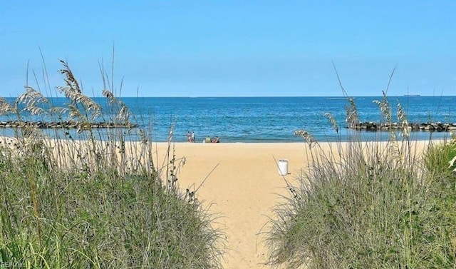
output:
[[[375,123],[372,121],[366,121],[363,123],[356,123],[347,128],[359,130],[359,131],[390,131],[390,130],[402,130],[403,126],[401,123]],[[456,123],[409,123],[409,131],[430,131],[430,132],[450,132],[456,131]]]

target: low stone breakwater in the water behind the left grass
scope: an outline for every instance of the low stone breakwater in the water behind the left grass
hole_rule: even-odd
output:
[[[136,128],[138,124],[133,123],[113,123],[101,121],[96,123],[80,123],[76,121],[0,121],[0,128]]]

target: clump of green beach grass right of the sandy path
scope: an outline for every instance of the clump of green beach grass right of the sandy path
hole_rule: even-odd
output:
[[[344,91],[345,93],[345,91]],[[386,93],[378,101],[391,123]],[[347,123],[358,121],[348,98]],[[337,124],[331,121],[336,129]],[[402,132],[389,141],[339,141],[311,151],[298,183],[274,208],[266,243],[269,265],[286,268],[456,268],[456,142],[429,141],[424,152]],[[336,129],[337,131],[337,129]]]

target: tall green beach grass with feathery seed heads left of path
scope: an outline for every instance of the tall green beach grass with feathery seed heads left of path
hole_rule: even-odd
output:
[[[105,113],[61,64],[66,107],[30,86],[14,103],[0,100],[0,113],[19,123],[76,124],[51,136],[19,126],[0,139],[0,268],[220,268],[214,215],[177,186],[185,160],[175,157],[172,128],[157,163],[152,126],[128,127],[135,119],[113,84]],[[125,128],[90,127],[100,119]]]

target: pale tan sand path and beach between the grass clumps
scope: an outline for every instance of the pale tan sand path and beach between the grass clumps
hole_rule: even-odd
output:
[[[157,145],[160,165],[167,145]],[[296,181],[305,166],[306,148],[306,143],[175,143],[177,158],[186,158],[180,188],[198,188],[207,177],[197,195],[219,213],[214,226],[226,233],[224,268],[269,268],[260,233],[279,195],[288,195],[284,177]],[[288,160],[288,175],[279,175],[274,158]]]

